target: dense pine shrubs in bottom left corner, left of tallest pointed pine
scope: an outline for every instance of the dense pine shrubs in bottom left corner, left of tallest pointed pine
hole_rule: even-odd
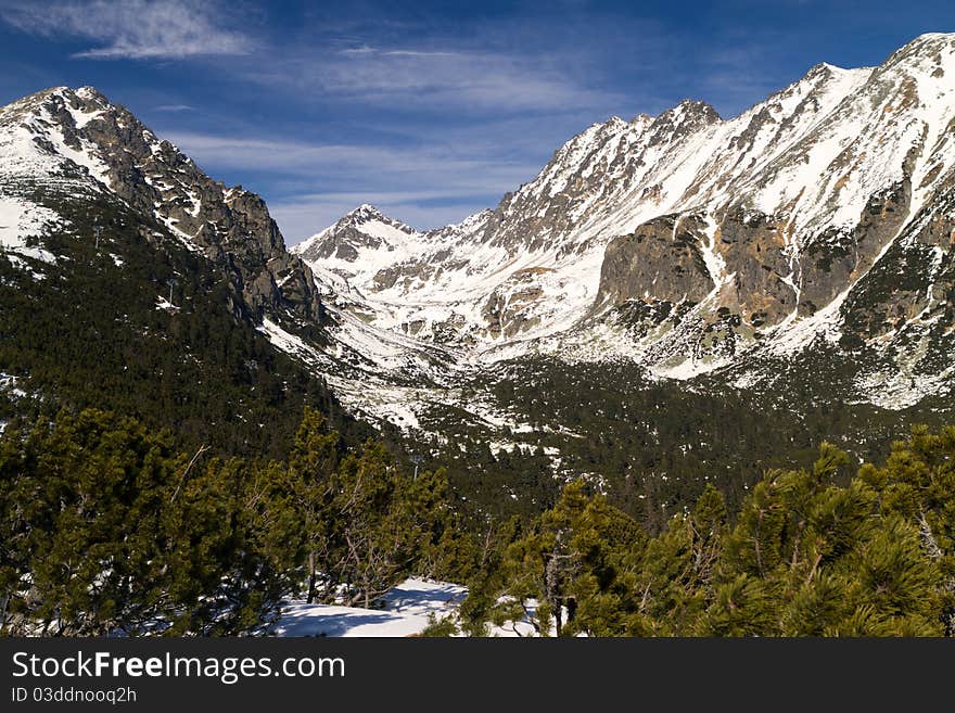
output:
[[[0,444],[0,629],[233,634],[268,621],[294,562],[260,546],[238,461],[63,413]]]

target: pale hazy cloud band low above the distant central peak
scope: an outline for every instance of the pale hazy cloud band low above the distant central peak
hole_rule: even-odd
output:
[[[314,234],[360,203],[373,203],[421,228],[454,222],[494,206],[540,168],[486,156],[466,143],[311,144],[175,132],[166,138],[213,174],[281,175],[267,199],[289,243]]]

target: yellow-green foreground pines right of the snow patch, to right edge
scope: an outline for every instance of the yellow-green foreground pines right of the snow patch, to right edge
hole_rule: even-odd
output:
[[[917,429],[854,476],[824,444],[811,468],[768,471],[735,525],[711,485],[650,539],[569,485],[505,549],[489,619],[591,636],[951,636],[953,461],[953,428]]]

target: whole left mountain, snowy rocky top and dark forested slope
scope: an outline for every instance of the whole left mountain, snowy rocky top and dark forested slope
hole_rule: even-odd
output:
[[[0,110],[0,424],[96,406],[281,455],[310,404],[369,433],[268,320],[324,339],[311,271],[259,196],[90,87]]]

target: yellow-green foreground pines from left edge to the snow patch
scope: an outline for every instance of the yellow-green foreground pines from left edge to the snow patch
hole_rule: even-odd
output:
[[[255,633],[302,593],[368,607],[466,551],[451,523],[442,473],[349,450],[310,409],[288,462],[64,411],[0,438],[0,633]]]

